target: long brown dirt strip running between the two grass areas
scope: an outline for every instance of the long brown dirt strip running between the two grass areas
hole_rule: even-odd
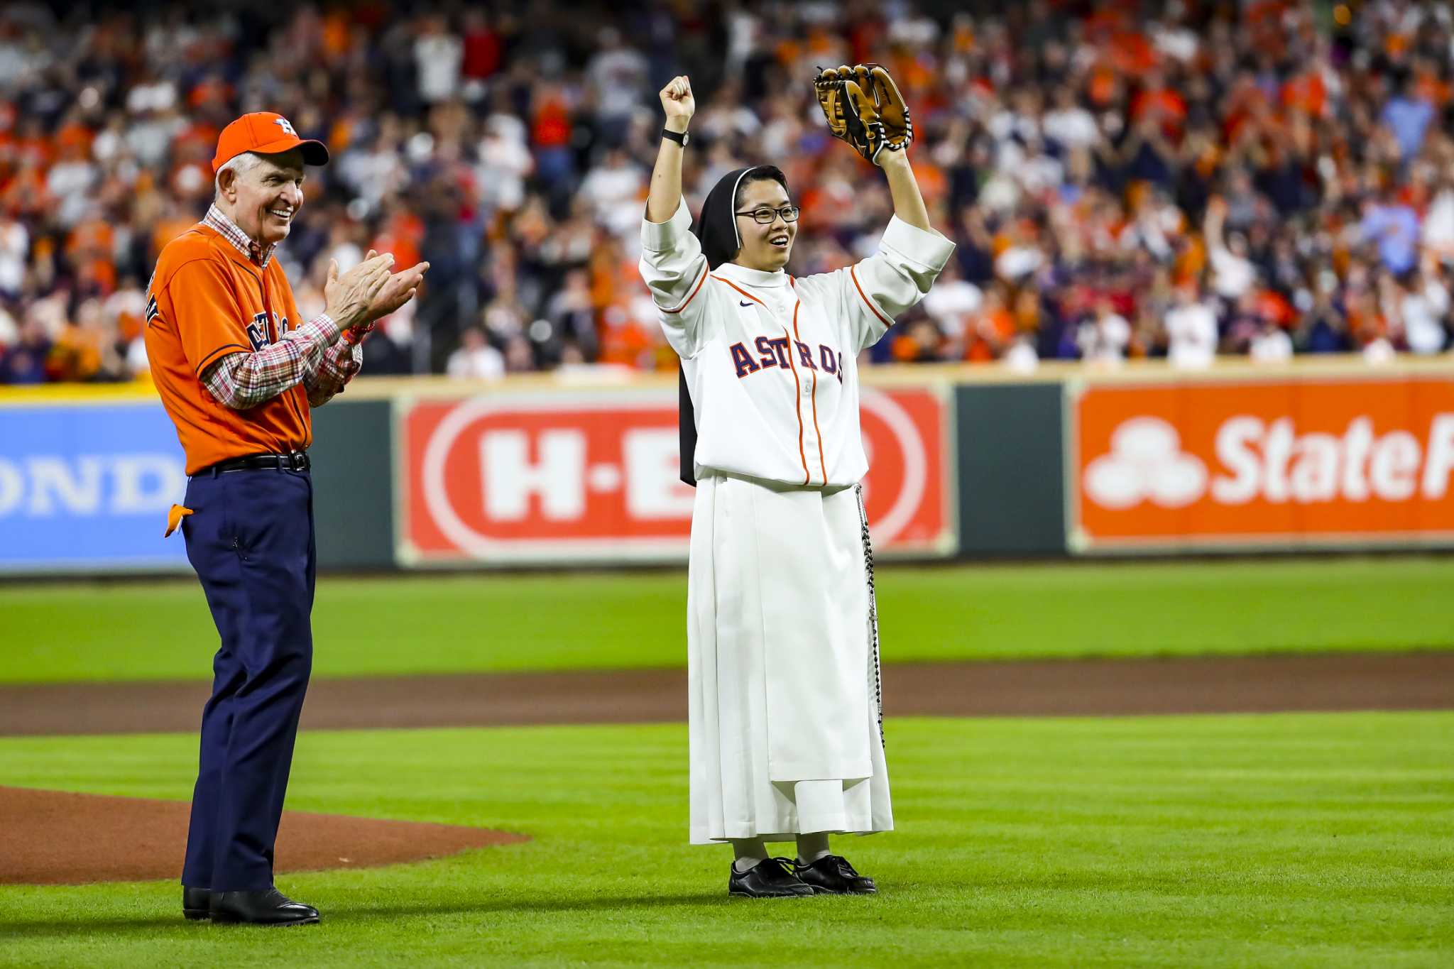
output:
[[[205,683],[0,687],[0,737],[195,731]],[[1454,652],[890,665],[888,716],[1454,709]],[[316,680],[304,729],[686,719],[686,673]]]

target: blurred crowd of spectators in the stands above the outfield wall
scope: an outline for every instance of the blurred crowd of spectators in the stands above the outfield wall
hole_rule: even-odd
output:
[[[122,4],[125,6],[125,4]],[[57,13],[61,10],[61,13]],[[157,251],[206,211],[222,125],[276,110],[333,163],[279,248],[432,263],[371,373],[675,369],[635,264],[657,90],[696,92],[689,202],[774,163],[790,272],[871,253],[883,176],[819,65],[878,61],[958,248],[867,352],[1202,366],[1450,346],[1454,13],[1441,1],[111,6],[0,10],[0,382],[145,372]]]

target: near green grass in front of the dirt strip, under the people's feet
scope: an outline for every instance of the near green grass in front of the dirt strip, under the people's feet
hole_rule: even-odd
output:
[[[726,896],[683,726],[304,734],[289,806],[531,844],[281,879],[324,924],[183,923],[172,882],[0,888],[4,965],[1437,966],[1454,715],[890,723],[874,898]],[[182,735],[0,741],[6,783],[185,799]],[[84,832],[77,832],[84,837]],[[177,848],[180,856],[180,846]]]

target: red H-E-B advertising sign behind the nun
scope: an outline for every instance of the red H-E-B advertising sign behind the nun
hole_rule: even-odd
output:
[[[875,539],[944,542],[944,408],[865,394]],[[675,394],[422,401],[403,418],[407,564],[685,561],[695,490],[678,481]]]

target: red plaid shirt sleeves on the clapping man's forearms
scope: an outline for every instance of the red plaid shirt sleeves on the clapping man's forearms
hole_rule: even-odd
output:
[[[314,407],[343,389],[358,373],[362,353],[339,338],[339,324],[326,312],[254,353],[228,353],[202,373],[220,402],[244,411],[302,384]]]

